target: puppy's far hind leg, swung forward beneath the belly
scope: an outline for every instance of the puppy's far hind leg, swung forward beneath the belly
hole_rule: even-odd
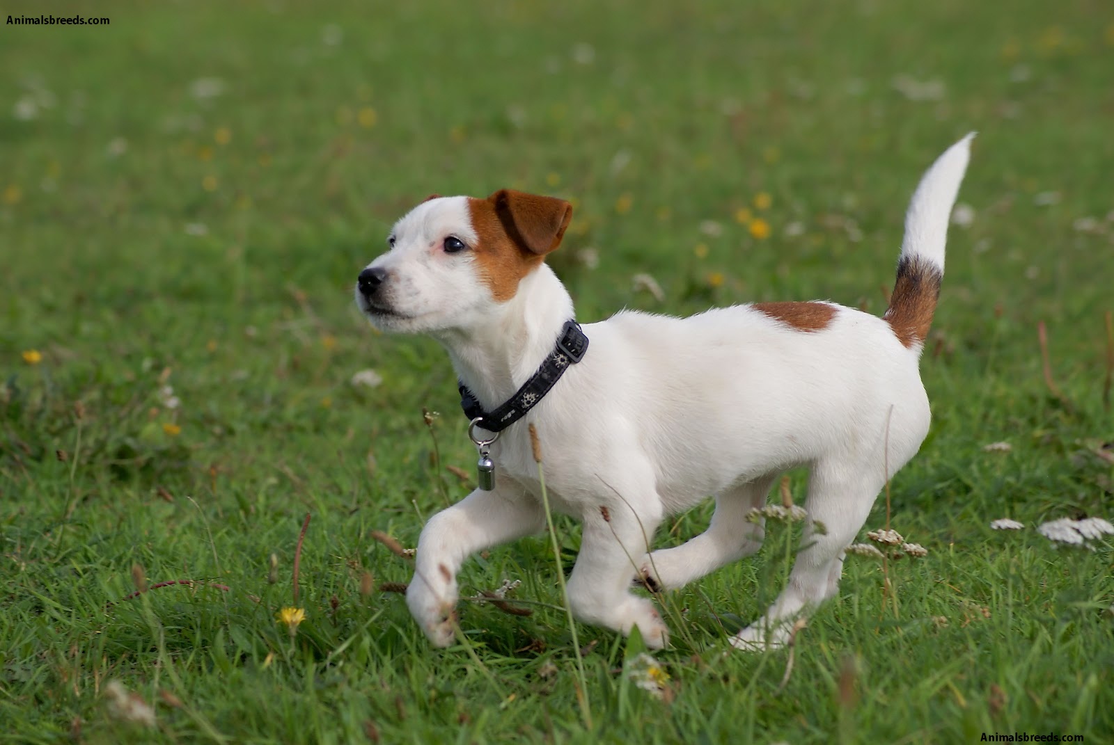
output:
[[[707,530],[674,548],[645,555],[635,584],[652,590],[676,589],[737,561],[762,548],[763,521],[749,522],[747,513],[761,509],[776,474],[732,487],[715,499],[715,514]]]

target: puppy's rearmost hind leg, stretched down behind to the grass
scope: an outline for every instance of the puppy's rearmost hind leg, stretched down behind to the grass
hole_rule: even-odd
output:
[[[780,647],[789,640],[795,618],[836,595],[843,549],[867,521],[883,484],[880,467],[819,463],[813,468],[804,504],[809,517],[789,585],[761,619],[732,637],[732,646],[750,650]]]

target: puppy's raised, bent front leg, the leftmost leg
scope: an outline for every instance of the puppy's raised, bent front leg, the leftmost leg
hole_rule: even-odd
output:
[[[418,539],[407,605],[436,646],[447,647],[452,643],[457,572],[465,559],[490,546],[538,532],[544,527],[541,506],[515,486],[495,491],[477,489],[429,519]]]

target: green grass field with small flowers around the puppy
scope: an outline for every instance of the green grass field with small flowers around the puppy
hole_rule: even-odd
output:
[[[1111,543],[1034,530],[1114,513],[1103,3],[74,8],[111,23],[0,29],[0,741],[1114,742]],[[441,467],[475,458],[443,352],[375,335],[350,298],[409,206],[575,199],[553,263],[583,321],[881,312],[908,196],[970,129],[975,220],[951,232],[921,363],[932,432],[891,484],[929,555],[889,565],[896,607],[852,557],[788,679],[788,653],[725,654],[783,580],[774,530],[665,598],[667,700],[619,672],[637,641],[577,628],[589,732],[546,536],[466,565],[465,594],[520,579],[534,614],[462,604],[447,651],[398,595],[361,591],[409,579],[370,531],[413,546],[442,490],[467,491]],[[382,383],[353,386],[368,367]],[[275,614],[306,513],[292,639]],[[567,567],[578,528],[557,529]],[[136,565],[195,584],[121,600]],[[154,728],[121,721],[114,679]]]

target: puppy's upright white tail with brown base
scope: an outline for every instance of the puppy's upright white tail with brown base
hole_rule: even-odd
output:
[[[944,245],[951,207],[964,180],[975,133],[937,158],[920,179],[906,213],[906,234],[890,307],[882,317],[905,346],[920,353],[944,280]]]

